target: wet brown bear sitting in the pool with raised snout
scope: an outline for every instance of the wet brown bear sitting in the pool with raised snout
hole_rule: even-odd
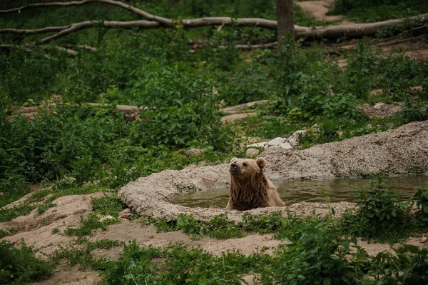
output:
[[[236,159],[230,161],[230,198],[228,210],[245,211],[260,207],[285,206],[277,189],[265,175],[266,161]]]

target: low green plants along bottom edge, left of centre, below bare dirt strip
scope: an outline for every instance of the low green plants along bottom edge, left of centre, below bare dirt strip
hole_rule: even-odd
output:
[[[124,247],[123,256],[106,271],[106,284],[240,284],[240,274],[262,266],[268,256],[238,252],[220,256],[175,244],[164,249]]]

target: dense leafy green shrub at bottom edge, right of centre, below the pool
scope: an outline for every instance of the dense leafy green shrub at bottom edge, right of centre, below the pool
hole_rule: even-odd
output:
[[[275,253],[277,260],[271,265],[275,283],[354,284],[355,279],[362,278],[362,266],[352,263],[361,254],[356,239],[344,239],[324,224],[300,228],[297,241]],[[351,243],[356,252],[350,251]]]

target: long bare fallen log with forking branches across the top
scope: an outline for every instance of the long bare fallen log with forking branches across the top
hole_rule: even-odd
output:
[[[80,23],[73,23],[68,26],[51,26],[42,29],[0,29],[0,34],[13,33],[13,34],[43,34],[48,32],[57,32],[54,35],[47,36],[39,42],[47,43],[58,39],[61,36],[71,34],[74,31],[81,29],[88,29],[93,26],[104,26],[106,28],[116,29],[131,29],[138,27],[140,29],[156,29],[156,28],[195,28],[202,26],[248,26],[260,27],[264,29],[277,29],[277,21],[260,18],[238,18],[231,17],[203,17],[200,19],[167,19],[161,16],[150,14],[146,11],[138,9],[134,6],[122,3],[121,1],[113,0],[83,0],[83,1],[69,1],[69,2],[51,2],[51,3],[36,3],[27,4],[18,8],[9,10],[0,10],[0,14],[20,13],[25,9],[41,8],[41,7],[65,7],[65,6],[81,6],[90,3],[108,4],[118,6],[122,9],[142,16],[146,20],[140,21],[82,21]],[[428,13],[418,16],[412,16],[407,19],[393,19],[388,21],[381,21],[377,23],[364,23],[364,24],[345,24],[339,26],[314,26],[305,27],[295,25],[295,37],[297,39],[339,39],[339,38],[360,38],[362,36],[374,36],[377,31],[385,29],[389,26],[414,26],[422,25],[428,21]]]

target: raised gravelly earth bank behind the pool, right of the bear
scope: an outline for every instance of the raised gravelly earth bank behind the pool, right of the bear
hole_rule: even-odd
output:
[[[303,151],[270,148],[263,156],[268,173],[277,179],[425,173],[428,171],[428,121]]]

